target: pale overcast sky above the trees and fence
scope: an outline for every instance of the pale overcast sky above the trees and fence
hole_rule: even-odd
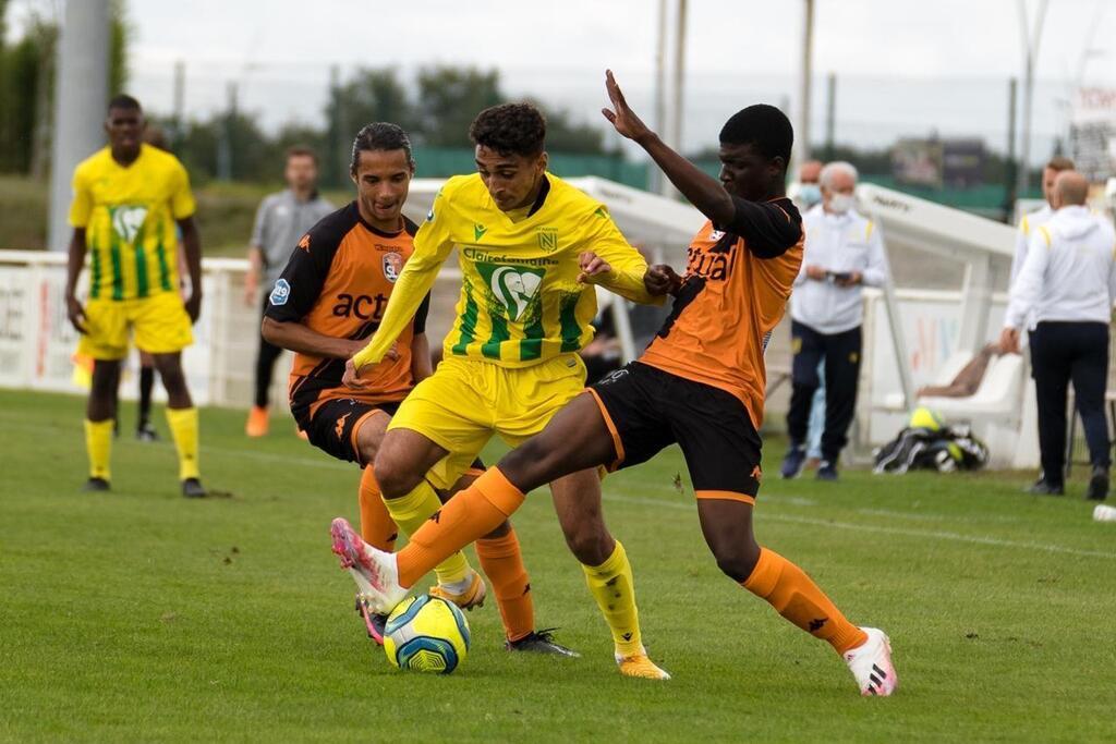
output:
[[[676,0],[670,0],[673,7]],[[13,0],[16,27],[31,6]],[[1028,0],[1033,17],[1038,0]],[[510,95],[532,95],[596,122],[612,67],[651,115],[657,0],[127,0],[135,28],[132,88],[167,113],[175,60],[186,64],[187,114],[223,105],[235,80],[241,106],[269,127],[317,123],[329,68],[435,62],[496,67]],[[798,106],[800,0],[690,0],[684,135],[715,139],[750,103]],[[1003,149],[1007,80],[1021,75],[1018,0],[817,0],[815,104],[838,77],[837,139],[889,144],[896,136],[973,134]],[[672,19],[672,26],[674,21]],[[1086,55],[1086,48],[1091,51]],[[1083,66],[1083,60],[1085,61]],[[1084,69],[1084,74],[1081,74]],[[1078,80],[1116,87],[1116,2],[1050,0],[1039,51],[1036,157],[1064,133]]]

